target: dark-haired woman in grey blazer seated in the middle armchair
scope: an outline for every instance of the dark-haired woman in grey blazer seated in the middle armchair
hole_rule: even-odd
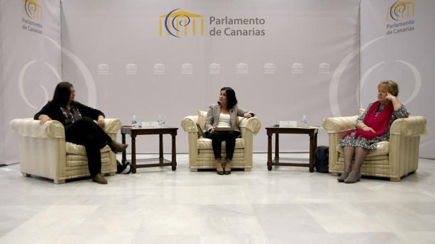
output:
[[[236,93],[231,87],[220,89],[219,102],[209,106],[206,119],[206,138],[212,139],[217,174],[231,174],[231,160],[236,138],[240,137],[237,116],[251,118],[255,114],[237,107]],[[222,129],[223,128],[223,129]],[[225,141],[225,168],[221,164],[221,143]]]

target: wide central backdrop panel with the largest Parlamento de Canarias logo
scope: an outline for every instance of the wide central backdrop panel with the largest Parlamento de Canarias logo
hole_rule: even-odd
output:
[[[159,34],[159,16],[176,8],[203,16],[196,18],[196,35],[189,29],[188,35],[181,32],[177,38],[164,28]],[[299,121],[304,113],[310,124],[320,125],[322,118],[332,115],[331,78],[343,59],[358,50],[358,12],[356,0],[63,0],[63,47],[85,64],[91,77],[86,78],[87,70],[80,69],[79,60],[66,55],[62,59],[63,75],[76,86],[78,101],[96,105],[108,117],[119,117],[125,124],[133,114],[141,121],[166,115],[167,124],[180,129],[177,152],[187,152],[181,119],[196,114],[198,108],[207,109],[217,102],[221,87],[231,86],[239,106],[260,117],[262,128],[254,150],[264,152],[264,127],[279,120]],[[211,22],[212,18],[225,17],[258,18],[264,24]],[[200,35],[201,19],[204,35]],[[225,35],[225,28],[254,29],[264,35]],[[212,30],[222,34],[211,35]],[[213,63],[220,69],[211,71]],[[302,67],[292,67],[296,63]],[[322,63],[326,63],[324,69],[319,70]],[[136,70],[126,70],[129,64]],[[164,71],[154,70],[159,64],[164,65]],[[192,69],[182,70],[183,64],[190,64]],[[247,70],[237,70],[238,64],[246,64],[239,68]],[[98,70],[99,65],[106,66]],[[357,109],[358,68],[356,55],[338,77],[340,86],[331,91],[339,102],[335,108],[343,114],[353,114]],[[91,95],[89,84],[96,87]],[[90,102],[88,97],[96,101]],[[137,150],[156,152],[157,139],[138,137]],[[169,141],[169,137],[164,139]],[[282,150],[308,150],[306,135],[282,136],[281,141]],[[325,133],[319,137],[319,144],[326,143]],[[170,143],[165,146],[165,151],[170,151]]]

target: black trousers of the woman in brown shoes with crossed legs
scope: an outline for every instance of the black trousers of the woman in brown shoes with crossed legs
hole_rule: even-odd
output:
[[[90,176],[101,173],[100,149],[110,143],[112,138],[99,125],[91,118],[83,117],[65,126],[65,140],[85,146]]]

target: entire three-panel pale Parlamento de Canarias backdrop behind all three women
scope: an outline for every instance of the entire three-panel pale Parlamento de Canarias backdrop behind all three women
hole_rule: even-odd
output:
[[[406,104],[408,109],[426,116],[429,130],[433,128],[433,113],[424,106],[433,91],[427,80],[433,74],[429,57],[434,49],[429,43],[434,43],[434,34],[424,24],[433,22],[430,1],[415,2],[415,30],[386,35],[387,8],[394,1],[363,0],[361,57],[357,0],[37,2],[43,18],[32,16],[36,19],[30,25],[42,24],[38,27],[42,33],[23,29],[23,21],[31,18],[22,10],[21,0],[0,0],[0,132],[5,135],[0,139],[0,163],[17,162],[9,121],[32,117],[51,99],[59,76],[75,85],[78,101],[103,110],[107,117],[121,118],[124,124],[130,123],[133,114],[141,121],[166,115],[168,125],[179,127],[177,152],[187,151],[181,119],[216,103],[222,86],[233,87],[240,107],[261,118],[256,152],[266,151],[264,127],[279,120],[299,122],[304,113],[311,125],[320,125],[324,117],[353,115],[359,105],[364,107],[376,98],[376,84],[385,78],[399,82],[402,102],[415,97]],[[164,25],[160,28],[160,21],[164,24],[174,9],[196,20],[195,35],[192,22],[186,35],[184,29],[175,33],[169,26],[179,38],[168,35]],[[225,18],[261,23],[216,21]],[[225,29],[260,35],[226,35]],[[396,60],[419,70],[423,85],[417,96],[409,66]],[[385,63],[376,66],[380,62]],[[364,81],[361,97],[360,78]],[[320,130],[319,134],[318,144],[326,145],[326,133]],[[164,139],[168,142],[165,151],[170,151],[169,138]],[[308,149],[304,135],[280,140],[282,150]],[[137,141],[139,152],[157,152],[157,136]],[[433,144],[433,137],[423,137],[421,156],[434,158],[429,151]]]

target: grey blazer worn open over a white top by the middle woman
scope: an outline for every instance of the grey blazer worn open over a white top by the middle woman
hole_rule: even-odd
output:
[[[229,122],[230,122],[230,126],[233,127],[234,130],[240,132],[236,119],[237,116],[243,116],[243,114],[245,113],[251,113],[252,116],[255,116],[253,112],[238,108],[237,105],[234,105],[233,108],[229,109]],[[219,122],[219,115],[220,115],[220,105],[211,104],[207,111],[206,127],[205,127],[206,131],[210,132],[210,130],[213,127],[217,126],[217,123]]]

